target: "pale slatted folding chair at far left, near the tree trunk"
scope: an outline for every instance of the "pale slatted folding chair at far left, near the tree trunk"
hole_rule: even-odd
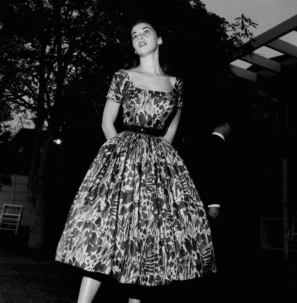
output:
[[[0,215],[0,231],[13,230],[18,233],[19,224],[21,221],[22,205],[4,204]]]

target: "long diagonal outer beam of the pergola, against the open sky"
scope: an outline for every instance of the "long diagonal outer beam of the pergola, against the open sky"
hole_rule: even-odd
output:
[[[294,31],[297,28],[297,15],[289,18],[288,20],[276,25],[275,27],[269,29],[261,35],[255,37],[255,41],[249,41],[238,48],[238,52],[233,53],[233,57],[230,62],[239,59],[242,56],[247,55],[252,50],[260,48],[283,35],[288,34],[289,32]]]

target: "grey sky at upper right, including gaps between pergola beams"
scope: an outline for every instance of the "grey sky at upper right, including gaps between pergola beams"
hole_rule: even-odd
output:
[[[208,12],[213,12],[229,23],[244,14],[259,26],[251,28],[254,37],[266,32],[268,29],[297,15],[297,0],[201,0]],[[281,38],[297,46],[297,32],[290,33]],[[281,53],[267,47],[261,47],[255,51],[266,58],[281,55]],[[234,62],[242,68],[248,68],[250,64],[237,60]]]

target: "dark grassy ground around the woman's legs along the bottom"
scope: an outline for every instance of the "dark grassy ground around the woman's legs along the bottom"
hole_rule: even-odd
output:
[[[21,248],[0,233],[0,303],[76,303],[81,272],[53,261],[52,253]],[[286,302],[296,298],[296,257],[285,261],[282,251],[230,255],[216,280],[192,280],[172,287],[146,288],[147,302]],[[232,260],[232,261],[231,261]],[[128,302],[117,283],[102,284],[96,302]]]

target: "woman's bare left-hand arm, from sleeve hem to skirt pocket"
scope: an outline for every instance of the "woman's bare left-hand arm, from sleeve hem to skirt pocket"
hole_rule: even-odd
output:
[[[120,103],[106,99],[102,117],[102,129],[106,140],[113,138],[117,134],[113,124],[116,121],[120,106]]]

